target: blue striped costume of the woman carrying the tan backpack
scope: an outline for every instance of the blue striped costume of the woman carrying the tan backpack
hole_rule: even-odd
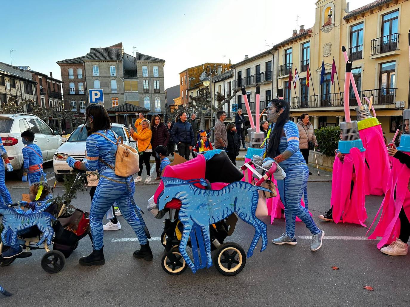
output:
[[[107,138],[114,143],[117,140],[116,135],[112,130],[99,130],[97,132],[106,135]],[[98,173],[100,174],[100,179],[98,181],[96,193],[91,202],[90,210],[93,248],[95,250],[103,248],[103,217],[115,202],[117,202],[121,214],[137,235],[139,243],[147,244],[148,239],[144,232],[144,220],[139,212],[135,212],[134,209],[137,209],[137,207],[132,203],[135,191],[134,181],[130,180],[132,177],[124,178],[117,176],[113,169],[101,161],[103,160],[105,163],[112,166],[115,165],[116,145],[109,142],[101,135],[91,134],[87,138],[86,150],[87,161],[81,163],[81,165],[84,165],[84,167],[91,172],[98,169]],[[68,158],[68,165],[73,167],[75,163],[75,160],[73,160],[74,159],[71,157]],[[75,167],[77,167],[77,163],[75,164]]]

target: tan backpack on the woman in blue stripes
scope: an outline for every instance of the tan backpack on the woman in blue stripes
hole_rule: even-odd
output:
[[[103,138],[109,140],[117,146],[117,151],[115,152],[115,167],[109,165],[103,159],[99,159],[109,168],[114,169],[117,176],[128,177],[139,172],[138,151],[127,144],[123,144],[122,136],[118,137],[117,142],[115,143],[101,133],[96,132],[94,134],[101,135]]]

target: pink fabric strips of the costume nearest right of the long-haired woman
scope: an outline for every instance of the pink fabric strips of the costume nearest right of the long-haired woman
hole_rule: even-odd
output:
[[[353,172],[353,167],[354,171]],[[342,163],[335,157],[333,163],[332,195],[330,206],[333,208],[333,221],[354,223],[366,227],[366,208],[364,208],[364,152],[356,147],[346,153]],[[353,192],[351,193],[351,181]],[[351,194],[351,197],[350,197]]]

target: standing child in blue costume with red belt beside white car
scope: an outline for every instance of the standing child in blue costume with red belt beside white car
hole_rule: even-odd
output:
[[[26,146],[23,148],[23,178],[21,181],[27,182],[29,185],[35,182],[47,182],[43,172],[43,155],[40,147],[33,143],[34,133],[30,130],[21,133],[21,139]]]

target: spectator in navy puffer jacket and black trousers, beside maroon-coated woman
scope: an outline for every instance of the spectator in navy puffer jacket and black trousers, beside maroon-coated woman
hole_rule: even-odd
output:
[[[171,137],[177,144],[179,155],[189,160],[189,153],[192,147],[195,146],[195,139],[194,131],[191,124],[187,122],[187,114],[185,112],[178,114],[177,121],[172,127]]]

